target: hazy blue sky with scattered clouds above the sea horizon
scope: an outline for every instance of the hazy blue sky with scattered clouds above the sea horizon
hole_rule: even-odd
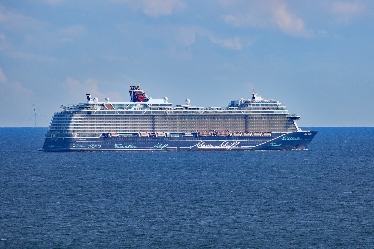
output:
[[[226,107],[252,89],[300,127],[374,126],[374,1],[0,0],[0,127],[130,85]]]

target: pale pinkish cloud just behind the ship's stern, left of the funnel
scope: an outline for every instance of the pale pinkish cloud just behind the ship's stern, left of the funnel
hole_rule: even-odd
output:
[[[114,102],[122,101],[122,97],[117,92],[101,93],[98,90],[98,83],[101,82],[93,79],[88,79],[84,83],[80,83],[78,80],[67,77],[62,86],[76,99],[85,99],[86,93],[89,93],[93,98],[97,97],[99,101],[104,101],[106,97],[109,97]]]

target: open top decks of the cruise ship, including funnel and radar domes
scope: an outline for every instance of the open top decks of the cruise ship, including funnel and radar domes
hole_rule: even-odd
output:
[[[203,108],[190,105],[190,100],[186,100],[186,105],[172,106],[167,97],[163,99],[152,99],[140,89],[139,86],[131,86],[129,89],[131,100],[129,102],[110,102],[108,98],[105,102],[99,102],[98,98],[92,98],[91,94],[86,94],[87,102],[77,105],[61,105],[62,111],[80,114],[162,114],[162,113],[196,113],[196,114],[233,114],[233,113],[275,113],[288,114],[285,105],[272,99],[262,99],[253,91],[250,99],[237,99],[230,102],[226,108],[211,107]],[[129,112],[131,111],[131,112]],[[294,115],[297,116],[297,115]]]

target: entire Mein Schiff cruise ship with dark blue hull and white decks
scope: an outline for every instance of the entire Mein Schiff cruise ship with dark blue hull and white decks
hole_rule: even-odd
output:
[[[86,94],[86,103],[62,105],[39,151],[305,150],[317,133],[301,130],[300,116],[254,91],[226,108],[203,108],[130,88],[129,102]]]

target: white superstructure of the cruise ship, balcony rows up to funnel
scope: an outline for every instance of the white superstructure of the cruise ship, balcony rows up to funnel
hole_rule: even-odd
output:
[[[172,106],[168,98],[152,99],[139,86],[129,89],[129,102],[99,102],[86,94],[87,102],[62,105],[50,123],[47,137],[100,136],[102,133],[197,133],[197,131],[271,132],[298,131],[286,106],[252,93],[249,99],[231,101],[227,108]]]

